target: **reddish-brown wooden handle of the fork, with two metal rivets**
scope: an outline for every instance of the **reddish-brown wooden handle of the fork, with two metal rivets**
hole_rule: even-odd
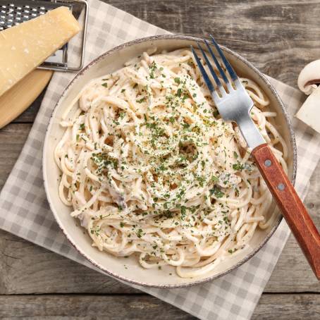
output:
[[[254,148],[252,156],[316,278],[320,280],[320,235],[307,209],[267,144]]]

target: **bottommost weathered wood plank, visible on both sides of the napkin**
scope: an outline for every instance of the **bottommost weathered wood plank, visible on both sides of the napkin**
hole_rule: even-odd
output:
[[[0,296],[1,319],[195,319],[149,295]],[[316,320],[320,295],[264,294],[252,320]]]

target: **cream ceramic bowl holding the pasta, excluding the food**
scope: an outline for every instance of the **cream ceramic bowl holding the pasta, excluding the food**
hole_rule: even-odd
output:
[[[136,257],[116,258],[107,252],[99,252],[97,248],[92,247],[92,240],[90,236],[84,233],[79,226],[76,226],[78,221],[70,216],[70,207],[66,207],[59,199],[58,185],[60,172],[54,162],[54,149],[63,134],[63,130],[59,125],[61,115],[75,95],[78,94],[82,87],[92,78],[97,78],[101,75],[111,73],[114,70],[118,70],[123,67],[123,63],[125,63],[125,61],[142,54],[142,52],[147,49],[156,47],[157,52],[163,50],[172,51],[174,49],[189,47],[190,44],[195,45],[196,41],[201,40],[193,37],[176,35],[147,37],[122,44],[121,46],[99,56],[99,58],[92,61],[92,63],[78,73],[63,92],[61,98],[56,104],[54,112],[52,113],[44,141],[44,187],[47,192],[47,198],[51,210],[54,213],[60,228],[63,230],[63,233],[65,233],[68,240],[70,240],[78,252],[90,260],[92,264],[97,266],[99,269],[109,273],[111,276],[137,285],[159,288],[179,288],[203,283],[205,281],[218,278],[219,276],[223,276],[250,259],[266,243],[266,241],[269,240],[282,219],[281,214],[279,214],[278,219],[271,228],[266,230],[257,230],[250,242],[251,250],[245,250],[232,259],[222,261],[216,269],[204,276],[185,279],[178,277],[171,266],[163,267],[161,270],[142,269],[138,264]],[[292,126],[281,99],[278,97],[278,94],[270,85],[269,81],[266,80],[266,78],[261,75],[261,73],[259,73],[251,63],[247,62],[230,49],[223,48],[223,51],[239,75],[250,78],[259,84],[271,101],[271,109],[278,113],[276,118],[278,130],[281,135],[283,135],[285,142],[288,144],[289,177],[294,182],[297,159],[295,139]]]

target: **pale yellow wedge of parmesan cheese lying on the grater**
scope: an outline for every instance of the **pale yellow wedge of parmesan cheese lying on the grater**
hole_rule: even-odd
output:
[[[80,31],[64,6],[0,32],[0,96]]]

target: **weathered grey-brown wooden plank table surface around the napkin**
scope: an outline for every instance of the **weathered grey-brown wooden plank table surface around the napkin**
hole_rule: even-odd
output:
[[[320,58],[320,1],[111,0],[171,32],[206,36],[296,87]],[[0,187],[16,162],[43,94],[0,130]],[[1,115],[0,115],[1,116]],[[320,164],[305,204],[320,226]],[[194,319],[73,261],[0,230],[0,319]],[[320,283],[291,236],[252,319],[320,319]]]

